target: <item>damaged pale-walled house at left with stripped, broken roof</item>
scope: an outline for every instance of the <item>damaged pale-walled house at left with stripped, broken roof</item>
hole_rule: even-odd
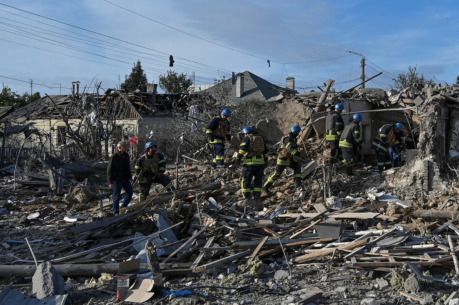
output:
[[[108,89],[102,95],[77,93],[42,97],[3,119],[8,126],[28,126],[35,133],[28,141],[25,139],[30,131],[7,137],[6,154],[17,150],[25,141],[24,151],[33,150],[39,155],[47,151],[61,158],[84,158],[76,145],[78,142],[87,145],[83,143],[86,138],[97,143],[94,144],[98,146],[95,154],[103,155],[104,151],[108,154],[115,151],[118,141],[129,141],[132,136],[138,136],[138,145],[130,147],[129,153],[139,156],[145,142],[151,141],[147,136],[155,136],[160,131],[163,135],[171,130],[175,124],[171,115],[183,112],[187,107],[184,99],[187,94],[157,94],[154,91]],[[82,133],[90,136],[78,136]],[[163,138],[166,140],[158,141],[158,149],[166,151],[172,141]]]

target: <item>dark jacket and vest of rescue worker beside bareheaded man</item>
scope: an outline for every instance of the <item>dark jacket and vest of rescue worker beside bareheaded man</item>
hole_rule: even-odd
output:
[[[151,183],[158,173],[166,171],[166,160],[162,153],[146,153],[135,163],[135,176],[138,183]]]

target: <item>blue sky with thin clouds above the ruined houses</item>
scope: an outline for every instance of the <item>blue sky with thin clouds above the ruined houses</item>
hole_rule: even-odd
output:
[[[169,68],[170,54],[176,61],[173,69],[195,72],[196,84],[248,70],[280,84],[293,76],[304,90],[331,78],[336,90],[346,90],[359,82],[360,57],[345,50],[369,60],[368,77],[380,68],[386,71],[367,87],[388,87],[392,75],[407,71],[409,65],[442,84],[455,83],[459,73],[457,1],[109,1],[159,23],[104,0],[0,0],[109,36],[0,5],[0,75],[67,88],[72,81],[89,86],[97,79],[106,89],[118,85],[118,75],[123,82],[139,59],[149,81],[157,83],[158,75]],[[32,39],[31,34],[38,36]],[[340,58],[320,61],[334,57]],[[30,92],[27,83],[3,77],[0,82],[19,93]],[[59,94],[59,88],[40,85],[33,90]],[[68,92],[62,89],[62,94]]]

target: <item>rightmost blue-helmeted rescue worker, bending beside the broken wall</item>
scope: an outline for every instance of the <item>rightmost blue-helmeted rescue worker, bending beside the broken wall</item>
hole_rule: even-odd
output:
[[[392,168],[391,155],[389,147],[401,142],[403,124],[385,124],[379,130],[371,144],[371,148],[376,151],[376,160],[378,161],[378,170],[380,173],[384,169]]]

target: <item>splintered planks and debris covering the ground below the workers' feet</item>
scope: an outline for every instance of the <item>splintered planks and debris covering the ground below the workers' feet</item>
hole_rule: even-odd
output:
[[[0,275],[10,275],[7,287],[25,294],[43,282],[32,277],[27,236],[38,263],[52,263],[63,277],[54,284],[66,287],[57,296],[67,304],[106,304],[122,289],[118,263],[138,258],[147,268],[150,240],[164,292],[128,290],[133,300],[136,291],[150,289],[145,304],[434,304],[455,291],[457,204],[451,188],[421,196],[412,187],[413,167],[422,161],[378,177],[356,168],[354,181],[338,178],[325,194],[328,169],[319,166],[303,190],[293,188],[289,175],[276,181],[274,195],[263,193],[260,206],[240,198],[240,169],[227,163],[216,170],[188,164],[179,171],[179,190],[157,187],[119,216],[110,216],[111,201],[101,194],[111,190],[97,179],[68,193],[64,184],[65,197],[9,198],[0,216],[6,229]],[[274,165],[271,159],[266,172]],[[37,278],[48,277],[54,278]]]

